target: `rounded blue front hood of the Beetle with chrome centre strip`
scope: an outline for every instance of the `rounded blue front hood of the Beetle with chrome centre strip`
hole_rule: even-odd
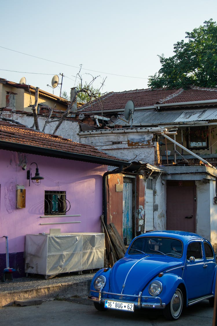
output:
[[[124,257],[112,267],[110,292],[138,295],[160,272],[181,265],[180,259],[163,255]]]

